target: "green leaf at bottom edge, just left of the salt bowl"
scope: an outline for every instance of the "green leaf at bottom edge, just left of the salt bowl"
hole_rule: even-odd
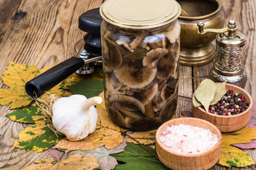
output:
[[[147,148],[156,154],[156,149],[151,149],[151,147]],[[117,159],[117,161],[125,162],[125,164],[117,165],[115,169],[167,169],[166,166],[159,161],[159,159],[156,159],[156,157],[144,149],[144,147],[134,145],[129,142],[127,143],[127,147],[125,147],[124,152],[112,154],[112,157]]]

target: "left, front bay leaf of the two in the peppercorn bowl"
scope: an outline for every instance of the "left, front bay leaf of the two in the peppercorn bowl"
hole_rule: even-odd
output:
[[[214,82],[210,79],[204,79],[198,86],[198,89],[196,89],[196,99],[198,99],[198,101],[202,103],[204,108],[206,108],[206,111],[208,111],[210,102],[213,101],[215,91],[216,86]]]

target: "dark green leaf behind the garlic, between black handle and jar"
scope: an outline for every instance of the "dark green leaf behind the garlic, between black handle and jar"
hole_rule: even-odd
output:
[[[73,94],[82,94],[87,98],[99,96],[104,89],[103,81],[95,79],[86,79],[85,81],[68,87]]]

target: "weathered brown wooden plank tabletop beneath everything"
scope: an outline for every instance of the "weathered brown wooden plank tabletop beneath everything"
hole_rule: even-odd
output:
[[[98,7],[102,0],[0,0],[0,74],[10,61],[35,64],[39,69],[52,66],[75,55],[75,42],[85,33],[78,29],[78,17],[90,8]],[[220,1],[225,18],[235,19],[240,30],[247,35],[245,89],[256,101],[256,1]],[[206,77],[213,62],[201,67],[180,67],[180,79]],[[193,76],[192,76],[193,75]],[[193,89],[203,79],[180,81],[179,95],[191,97]],[[2,82],[0,87],[7,89]],[[36,159],[50,159],[46,152],[28,152],[24,149],[11,150],[18,132],[28,125],[15,123],[4,115],[10,113],[8,106],[0,108],[0,169],[21,169],[33,164]],[[179,98],[178,112],[191,111],[188,98]],[[256,149],[245,150],[256,162]],[[212,169],[227,169],[215,165]],[[232,168],[237,169],[237,168]],[[246,169],[256,169],[255,165]]]

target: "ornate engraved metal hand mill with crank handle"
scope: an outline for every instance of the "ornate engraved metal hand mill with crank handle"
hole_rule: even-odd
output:
[[[242,88],[245,87],[245,42],[246,35],[238,30],[234,20],[222,29],[203,29],[204,23],[198,23],[198,33],[218,33],[216,36],[216,52],[209,79],[215,82],[227,81]]]

